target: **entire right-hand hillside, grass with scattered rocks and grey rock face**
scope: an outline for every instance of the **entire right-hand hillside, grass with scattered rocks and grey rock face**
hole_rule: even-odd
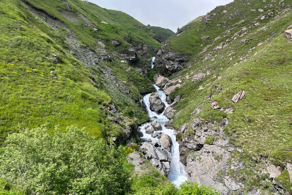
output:
[[[180,80],[170,125],[191,181],[223,194],[291,193],[291,4],[217,6],[158,51],[154,70]]]

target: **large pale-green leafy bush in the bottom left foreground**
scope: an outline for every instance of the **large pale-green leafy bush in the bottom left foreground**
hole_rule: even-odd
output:
[[[120,152],[84,129],[45,127],[13,133],[0,153],[0,174],[27,194],[125,194],[129,172]]]

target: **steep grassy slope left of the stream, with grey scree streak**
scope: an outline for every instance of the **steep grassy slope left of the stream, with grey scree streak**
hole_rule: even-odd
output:
[[[3,0],[0,6],[1,140],[41,124],[125,138],[126,130],[130,135],[131,127],[149,120],[140,94],[152,92],[152,86],[121,63],[126,58],[121,53],[130,55],[128,48],[141,43],[153,55],[161,44],[150,36],[152,30],[85,1]],[[133,66],[150,65],[133,51]]]

